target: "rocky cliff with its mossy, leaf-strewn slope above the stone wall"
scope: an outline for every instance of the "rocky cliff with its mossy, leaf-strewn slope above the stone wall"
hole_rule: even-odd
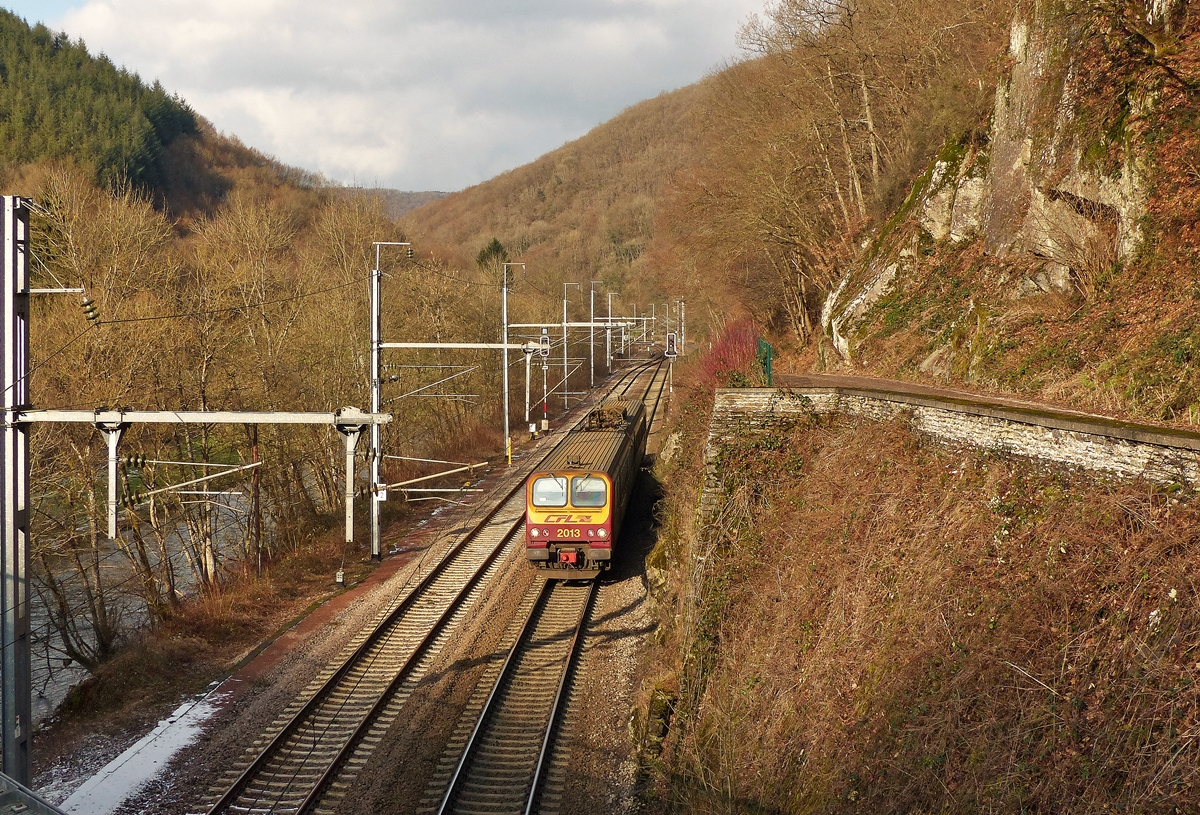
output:
[[[1195,7],[1021,8],[1002,78],[839,276],[804,365],[1195,425]]]

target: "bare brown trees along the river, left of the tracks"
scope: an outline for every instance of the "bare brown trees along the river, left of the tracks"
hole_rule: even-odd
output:
[[[30,170],[25,180],[37,202],[34,286],[82,286],[100,313],[98,325],[89,325],[72,298],[36,299],[31,398],[38,407],[331,412],[368,404],[371,242],[403,238],[377,198],[242,187],[181,238],[130,187],[113,194],[61,167]],[[498,290],[464,288],[432,260],[385,260],[389,336],[494,338],[481,310],[498,312]],[[478,361],[481,368],[464,382],[496,392],[494,359]],[[385,398],[432,376],[396,370]],[[404,420],[384,431],[385,447],[426,459],[494,451],[493,404],[408,400]],[[122,510],[114,549],[101,533],[97,499],[103,441],[88,425],[56,425],[35,427],[30,443],[38,496],[32,557],[61,648],[89,669],[113,655],[131,633],[128,619],[168,621],[197,592],[220,593],[239,574],[253,575],[259,557],[269,571],[277,559],[301,555],[314,531],[338,517],[344,450],[330,427],[137,425],[122,444],[152,461],[196,463],[125,468],[122,490],[133,505]],[[209,462],[246,462],[256,453],[264,463],[262,543],[246,517],[217,529],[209,505],[187,496],[138,497],[199,478]],[[384,477],[400,480],[412,471],[389,461]],[[176,534],[182,539],[173,540]]]

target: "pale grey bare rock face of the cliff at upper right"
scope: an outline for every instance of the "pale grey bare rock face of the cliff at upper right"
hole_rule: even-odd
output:
[[[1169,34],[1180,5],[1128,0],[1120,19]],[[869,318],[912,284],[910,272],[934,247],[990,258],[990,268],[976,271],[990,272],[1012,300],[1049,293],[1091,300],[1111,269],[1135,256],[1151,196],[1145,121],[1158,89],[1138,86],[1130,74],[1116,115],[1096,115],[1090,56],[1111,34],[1094,6],[1073,11],[1038,0],[1018,8],[990,121],[944,146],[829,295],[827,364],[859,361]],[[962,304],[958,330],[924,356],[922,370],[947,376],[971,335],[986,332],[986,311],[976,298]],[[971,360],[959,367],[970,379]]]

